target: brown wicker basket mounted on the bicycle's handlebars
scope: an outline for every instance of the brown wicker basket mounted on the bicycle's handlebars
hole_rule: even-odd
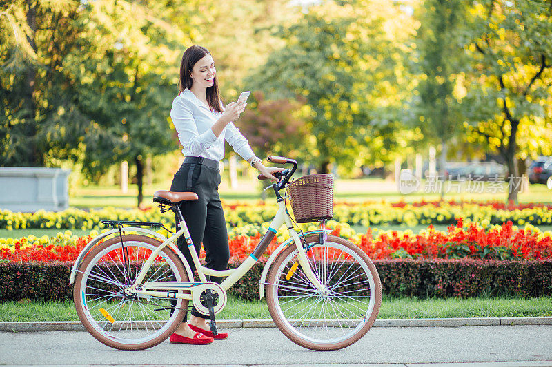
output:
[[[291,209],[297,223],[333,217],[333,175],[315,174],[290,183]]]

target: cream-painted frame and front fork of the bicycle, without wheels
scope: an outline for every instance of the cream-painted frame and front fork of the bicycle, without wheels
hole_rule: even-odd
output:
[[[191,280],[190,282],[147,282],[146,284],[144,284],[144,286],[147,285],[152,288],[160,287],[161,289],[164,289],[166,291],[148,291],[144,289],[138,289],[138,285],[142,282],[142,280],[144,280],[148,269],[150,269],[150,266],[154,262],[155,258],[157,258],[157,255],[159,255],[161,249],[164,249],[164,247],[166,247],[168,244],[174,243],[177,238],[179,238],[183,234],[186,243],[188,244],[188,248],[190,249],[190,254],[192,255],[195,269],[197,269],[199,280],[201,282],[208,282],[205,275],[226,277],[226,279],[220,284],[221,288],[226,291],[231,286],[233,286],[241,277],[243,277],[253,267],[253,265],[255,265],[255,262],[259,260],[259,256],[262,255],[264,251],[266,251],[268,244],[270,244],[270,242],[273,240],[274,236],[278,232],[278,229],[282,227],[282,224],[284,223],[286,224],[288,233],[290,233],[291,238],[293,238],[293,240],[295,241],[295,246],[297,247],[297,260],[299,260],[299,264],[301,265],[304,274],[319,291],[322,291],[324,289],[324,286],[315,276],[311,269],[311,266],[308,263],[305,249],[303,248],[297,231],[295,231],[295,229],[293,228],[291,218],[286,211],[286,205],[284,205],[284,200],[280,200],[279,202],[277,202],[277,204],[279,206],[278,211],[274,216],[272,222],[270,222],[268,230],[266,231],[266,233],[264,233],[263,238],[261,239],[259,244],[257,244],[257,247],[255,247],[255,249],[253,250],[253,253],[251,253],[248,258],[246,258],[246,260],[244,260],[244,262],[242,262],[242,264],[240,264],[237,268],[229,270],[213,270],[208,269],[205,266],[201,266],[201,264],[199,263],[199,257],[197,256],[194,248],[194,244],[192,242],[192,239],[190,238],[190,231],[188,231],[188,226],[186,226],[186,222],[183,221],[181,222],[181,229],[179,229],[179,231],[177,231],[175,235],[172,235],[172,237],[164,241],[159,247],[157,247],[157,249],[155,249],[155,251],[151,253],[148,260],[146,260],[144,266],[142,267],[140,273],[138,274],[135,282],[129,287],[129,291],[131,293],[141,295],[192,300],[194,291],[204,290],[203,287],[197,287],[197,285],[199,284],[197,284],[197,282],[193,282],[193,280]],[[170,291],[182,291],[183,287],[187,290],[190,290],[192,293],[170,293]]]

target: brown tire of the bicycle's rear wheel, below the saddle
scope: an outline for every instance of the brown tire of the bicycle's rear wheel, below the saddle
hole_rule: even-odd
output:
[[[155,240],[154,238],[147,237],[146,235],[123,235],[124,241],[133,241],[133,242],[145,242],[146,244],[150,244],[153,247],[159,247],[161,242],[158,240]],[[85,315],[85,311],[83,310],[83,303],[81,300],[81,285],[82,285],[82,277],[83,272],[88,268],[88,265],[92,260],[98,255],[101,251],[106,249],[107,247],[112,246],[113,244],[120,243],[121,239],[119,236],[110,238],[109,240],[106,240],[105,242],[102,242],[101,244],[98,244],[88,255],[86,258],[84,258],[83,262],[79,266],[79,272],[77,273],[77,277],[75,278],[75,288],[73,289],[73,300],[75,302],[75,308],[77,309],[77,315],[79,316],[79,319],[81,320],[83,326],[86,328],[86,330],[92,335],[92,337],[95,337],[99,342],[102,344],[105,344],[106,346],[110,346],[111,348],[119,349],[119,350],[144,350],[147,348],[151,348],[152,346],[156,346],[157,344],[164,342],[172,333],[175,332],[175,330],[178,328],[178,326],[181,324],[181,321],[175,321],[172,326],[170,326],[164,333],[161,333],[161,335],[158,335],[155,337],[155,339],[152,339],[148,342],[140,343],[140,344],[123,344],[119,342],[115,342],[112,339],[109,339],[108,337],[101,335],[97,331],[97,329],[92,326],[90,321]],[[161,253],[166,255],[172,262],[175,263],[175,266],[177,270],[179,271],[179,274],[181,276],[182,282],[188,281],[188,274],[186,273],[186,268],[184,267],[184,264],[182,264],[180,258],[178,255],[172,251],[169,247],[165,247],[161,250]],[[177,310],[177,316],[175,317],[175,320],[182,320],[184,319],[184,314],[186,313],[188,308],[188,300],[182,300],[181,306],[179,310]]]

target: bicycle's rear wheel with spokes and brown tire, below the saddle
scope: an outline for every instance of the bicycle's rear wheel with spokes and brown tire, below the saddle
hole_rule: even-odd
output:
[[[84,258],[75,279],[77,315],[99,342],[120,350],[141,350],[167,339],[179,326],[188,300],[150,295],[126,295],[144,262],[161,242],[145,235],[123,235],[98,244]],[[144,282],[187,282],[178,255],[165,247]]]

